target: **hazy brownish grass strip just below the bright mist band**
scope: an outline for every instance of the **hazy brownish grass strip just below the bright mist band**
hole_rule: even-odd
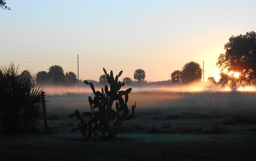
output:
[[[75,109],[90,110],[88,96],[92,94],[48,95],[49,117],[63,117]],[[256,112],[256,93],[131,93],[129,106],[137,103],[136,114],[165,115],[194,113],[219,116]],[[142,113],[138,113],[142,112]],[[156,113],[155,113],[156,112]]]

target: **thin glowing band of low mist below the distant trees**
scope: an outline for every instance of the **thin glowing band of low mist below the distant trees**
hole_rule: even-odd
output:
[[[53,86],[45,85],[45,91],[50,95],[63,95],[67,93],[92,93],[90,86]],[[96,90],[101,91],[102,86],[95,86]],[[256,92],[255,85],[245,85],[238,87],[230,87],[227,85],[212,84],[209,82],[193,83],[189,85],[145,85],[145,86],[129,86],[125,85],[122,90],[132,87],[132,93],[179,93],[179,92],[219,92],[219,91],[251,91]]]

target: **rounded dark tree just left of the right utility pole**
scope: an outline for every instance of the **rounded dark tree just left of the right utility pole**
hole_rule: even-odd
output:
[[[201,81],[202,69],[200,65],[194,61],[186,63],[182,68],[182,83],[191,83]]]

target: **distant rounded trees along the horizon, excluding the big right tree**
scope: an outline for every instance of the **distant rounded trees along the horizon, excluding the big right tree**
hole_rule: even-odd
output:
[[[23,77],[32,77],[28,70],[23,71],[20,75]],[[173,83],[189,83],[193,81],[201,80],[202,69],[200,65],[196,62],[189,62],[184,65],[183,71],[175,71],[171,74]],[[137,69],[134,72],[134,79],[140,83],[146,77],[145,71],[142,69]],[[49,71],[40,71],[35,75],[36,83],[39,85],[69,85],[74,86],[77,83],[77,76],[73,72],[67,72],[64,74],[63,69],[59,65],[52,65]],[[127,85],[131,85],[133,80],[130,77],[123,78],[123,81]],[[99,77],[99,84],[105,85],[108,83],[106,75],[101,75]]]

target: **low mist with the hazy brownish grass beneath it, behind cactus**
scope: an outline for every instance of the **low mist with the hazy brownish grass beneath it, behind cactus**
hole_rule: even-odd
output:
[[[125,90],[130,86],[124,86]],[[100,90],[99,86],[95,87]],[[135,116],[145,113],[183,116],[206,114],[207,116],[223,114],[256,113],[255,86],[230,87],[198,83],[172,86],[132,87],[128,106],[137,103]],[[68,116],[75,109],[90,111],[88,97],[94,97],[90,86],[65,87],[45,86],[48,95],[48,113],[50,116]]]

